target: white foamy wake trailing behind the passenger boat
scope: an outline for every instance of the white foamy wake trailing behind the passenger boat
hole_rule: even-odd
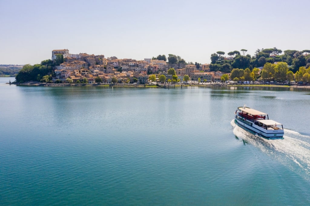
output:
[[[268,156],[277,159],[290,170],[310,179],[310,136],[284,129],[283,138],[265,139],[236,125],[232,120],[233,133],[243,144],[252,144]]]

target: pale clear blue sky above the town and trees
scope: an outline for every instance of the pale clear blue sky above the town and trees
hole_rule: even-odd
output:
[[[36,64],[53,49],[141,60],[217,51],[310,49],[310,1],[0,0],[0,64]]]

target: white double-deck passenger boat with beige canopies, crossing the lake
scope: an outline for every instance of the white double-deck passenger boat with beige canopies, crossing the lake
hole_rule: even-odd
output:
[[[269,119],[268,114],[251,109],[244,105],[235,111],[235,122],[238,126],[253,131],[263,137],[283,137],[283,125]]]

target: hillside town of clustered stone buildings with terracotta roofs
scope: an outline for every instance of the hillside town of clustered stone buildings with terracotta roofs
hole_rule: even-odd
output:
[[[104,58],[104,55],[94,54],[70,54],[68,49],[59,49],[52,51],[52,61],[56,59],[57,54],[62,54],[64,62],[55,69],[56,79],[65,82],[67,78],[76,83],[78,80],[83,81],[87,78],[88,83],[95,83],[95,78],[100,77],[104,83],[111,83],[112,78],[117,78],[118,83],[133,83],[134,78],[138,79],[139,84],[148,83],[148,73],[165,75],[166,80],[172,79],[168,75],[169,68],[175,68],[176,74],[180,81],[183,81],[184,75],[188,75],[191,80],[201,81],[220,81],[222,73],[210,72],[209,64],[203,64],[199,69],[196,65],[189,64],[168,64],[164,60],[144,58],[144,60],[134,59],[117,59],[116,57]],[[206,80],[205,80],[206,79]]]

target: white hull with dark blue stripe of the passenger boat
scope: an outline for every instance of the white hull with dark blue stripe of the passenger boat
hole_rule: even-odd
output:
[[[262,127],[256,126],[255,124],[253,124],[253,122],[250,121],[240,121],[239,119],[237,119],[237,117],[235,118],[235,122],[236,124],[248,131],[252,131],[254,133],[257,133],[263,137],[266,138],[271,138],[271,137],[283,137],[284,135],[284,131],[283,130],[266,130]]]

